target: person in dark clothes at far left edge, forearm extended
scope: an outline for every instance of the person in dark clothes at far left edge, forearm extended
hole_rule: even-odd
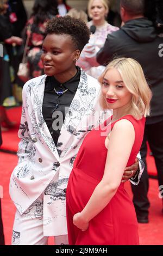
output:
[[[18,36],[12,35],[12,28],[8,16],[5,16],[7,10],[8,3],[6,0],[2,0],[0,2],[0,43],[3,46],[3,56],[0,57],[0,124],[2,131],[15,125],[15,122],[8,119],[5,107],[3,106],[4,100],[12,95],[8,49],[12,48],[12,44],[21,45],[23,42]]]

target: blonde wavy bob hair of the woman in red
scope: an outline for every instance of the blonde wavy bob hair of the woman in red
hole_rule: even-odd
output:
[[[106,72],[113,68],[120,72],[125,86],[132,94],[130,114],[138,120],[141,119],[142,116],[146,117],[149,115],[152,92],[151,89],[149,89],[141,65],[135,59],[131,58],[114,59],[106,66],[104,72],[98,78],[99,83],[102,84]],[[100,103],[103,109],[108,108],[102,93]]]

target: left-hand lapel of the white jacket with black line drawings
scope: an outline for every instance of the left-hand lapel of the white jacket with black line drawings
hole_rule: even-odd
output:
[[[52,151],[56,159],[59,161],[57,148],[55,147],[55,143],[53,141],[51,133],[49,132],[47,124],[43,119],[43,115],[42,115],[42,104],[43,104],[43,95],[45,90],[45,80],[46,80],[46,75],[42,76],[41,80],[39,80],[34,87],[30,88],[31,90],[30,94],[31,96],[33,96],[32,97],[33,111],[31,114],[31,118],[33,119],[33,124],[35,126],[34,128],[37,131],[37,135],[39,135],[40,141],[42,141],[42,138],[43,138],[43,141],[46,143],[47,147]]]

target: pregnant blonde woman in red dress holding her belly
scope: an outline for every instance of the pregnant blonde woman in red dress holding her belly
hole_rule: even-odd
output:
[[[133,202],[121,182],[141,147],[151,90],[139,63],[113,60],[99,82],[110,119],[79,149],[67,186],[70,245],[139,245]]]

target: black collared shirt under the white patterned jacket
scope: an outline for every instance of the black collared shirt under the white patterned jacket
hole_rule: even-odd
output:
[[[47,76],[45,81],[42,114],[55,145],[58,142],[66,111],[70,107],[73,97],[77,92],[80,81],[80,68],[78,66],[76,68],[77,74],[65,83],[61,84],[53,76]],[[68,90],[62,95],[57,95],[54,92],[54,88],[57,91]]]

